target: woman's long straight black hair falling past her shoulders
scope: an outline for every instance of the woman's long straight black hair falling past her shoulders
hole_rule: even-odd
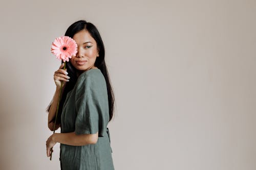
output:
[[[114,98],[114,92],[113,92],[112,85],[111,85],[110,78],[109,78],[109,72],[108,72],[108,69],[106,68],[106,64],[105,64],[104,44],[103,44],[103,41],[101,39],[101,36],[100,36],[97,28],[91,22],[87,22],[86,20],[79,20],[79,21],[74,22],[67,29],[65,36],[69,36],[69,37],[73,38],[73,36],[76,33],[78,33],[79,31],[82,31],[82,30],[87,30],[97,43],[97,47],[99,50],[99,57],[96,57],[96,61],[95,61],[94,65],[100,69],[100,71],[102,72],[102,74],[105,78],[105,81],[106,81],[106,87],[108,90],[109,115],[110,115],[109,121],[110,121],[114,114],[115,98]],[[61,63],[63,63],[62,60],[61,60]],[[66,82],[65,88],[62,91],[61,99],[59,102],[56,124],[61,123],[60,117],[61,117],[63,104],[67,97],[67,93],[74,88],[76,81],[78,79],[77,75],[79,75],[79,74],[77,74],[79,71],[71,64],[70,61],[69,62],[66,61],[66,68],[67,68],[67,71],[69,72],[70,79],[69,79],[69,82]],[[47,107],[47,112],[49,112],[51,105],[52,105],[52,101],[50,102],[49,106]],[[55,121],[55,116],[52,120],[50,120],[50,122],[54,122],[54,121]]]

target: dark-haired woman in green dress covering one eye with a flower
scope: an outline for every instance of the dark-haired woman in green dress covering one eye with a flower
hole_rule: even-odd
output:
[[[74,22],[65,33],[78,47],[76,56],[54,73],[56,91],[48,107],[48,127],[54,129],[60,81],[63,92],[54,133],[46,141],[50,149],[60,143],[61,169],[114,169],[109,129],[113,117],[114,93],[104,60],[104,45],[90,22]]]

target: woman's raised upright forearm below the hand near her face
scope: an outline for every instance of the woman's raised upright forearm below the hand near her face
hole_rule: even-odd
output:
[[[53,96],[53,102],[51,104],[51,107],[49,109],[49,114],[48,114],[48,128],[53,131],[54,129],[54,122],[51,122],[51,120],[56,116],[56,111],[57,111],[57,104],[58,104],[58,99],[59,99],[59,93],[60,93],[60,88],[56,87],[56,91]],[[60,127],[60,124],[55,125],[55,130],[57,130]]]

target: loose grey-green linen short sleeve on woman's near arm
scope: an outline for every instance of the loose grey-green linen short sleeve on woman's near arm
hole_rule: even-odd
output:
[[[84,76],[77,80],[75,94],[76,134],[95,134],[104,136],[108,118],[108,96],[104,83],[97,77]]]

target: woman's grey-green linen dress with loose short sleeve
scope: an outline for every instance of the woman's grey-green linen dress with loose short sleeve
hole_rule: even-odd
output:
[[[106,82],[100,69],[84,71],[68,92],[61,114],[61,133],[95,134],[96,144],[73,146],[60,143],[63,170],[113,170],[110,145],[109,104]]]

